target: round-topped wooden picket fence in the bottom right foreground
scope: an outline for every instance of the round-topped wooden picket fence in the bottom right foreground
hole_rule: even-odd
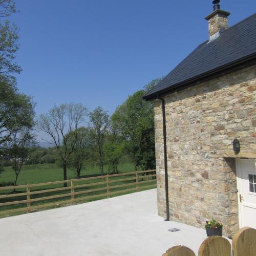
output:
[[[213,236],[203,241],[198,256],[255,256],[256,229],[244,227],[238,230],[232,239],[232,251],[227,239]],[[196,254],[185,246],[174,246],[162,256],[196,256]]]

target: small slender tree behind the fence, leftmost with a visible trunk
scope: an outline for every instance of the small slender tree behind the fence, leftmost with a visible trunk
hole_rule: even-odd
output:
[[[15,172],[14,186],[16,186],[20,171],[24,163],[28,160],[29,148],[35,144],[35,138],[31,133],[31,129],[27,127],[13,131],[11,137],[8,147],[9,154],[12,158],[12,169]]]

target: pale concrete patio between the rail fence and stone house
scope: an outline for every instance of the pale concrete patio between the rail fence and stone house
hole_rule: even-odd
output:
[[[5,256],[160,256],[175,245],[197,254],[206,238],[203,229],[159,217],[156,189],[4,218],[0,227]]]

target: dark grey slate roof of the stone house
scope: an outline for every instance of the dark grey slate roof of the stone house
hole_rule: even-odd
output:
[[[239,61],[256,58],[256,13],[224,30],[212,41],[205,41],[165,76],[144,99],[189,85],[207,74],[220,72]],[[201,77],[201,78],[200,78]]]

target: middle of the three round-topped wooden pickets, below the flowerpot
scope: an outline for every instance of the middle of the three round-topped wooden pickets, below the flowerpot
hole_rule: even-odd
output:
[[[198,256],[231,256],[229,241],[220,236],[206,238],[201,244]],[[242,256],[242,255],[240,255]]]

